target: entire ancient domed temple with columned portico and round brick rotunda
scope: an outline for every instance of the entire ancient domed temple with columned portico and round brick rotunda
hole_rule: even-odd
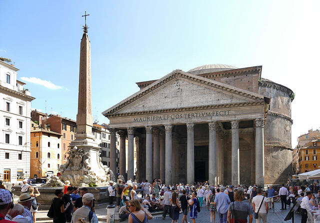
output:
[[[137,181],[286,182],[294,93],[262,78],[261,69],[208,64],[138,82],[139,91],[102,112],[110,121],[110,168],[118,132],[120,174]]]

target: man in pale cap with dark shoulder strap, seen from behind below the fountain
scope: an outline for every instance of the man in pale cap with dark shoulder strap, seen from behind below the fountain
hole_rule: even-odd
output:
[[[83,206],[73,212],[71,223],[76,223],[78,219],[84,218],[85,222],[98,223],[96,214],[91,210],[94,202],[92,193],[85,193],[82,196]]]

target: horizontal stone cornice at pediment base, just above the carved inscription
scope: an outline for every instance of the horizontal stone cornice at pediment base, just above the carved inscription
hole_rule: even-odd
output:
[[[226,109],[226,108],[238,108],[238,107],[251,107],[251,106],[263,106],[264,101],[252,101],[252,102],[239,102],[230,104],[212,104],[196,107],[180,107],[180,108],[168,108],[158,110],[146,110],[146,111],[134,111],[125,113],[110,113],[104,114],[106,117],[124,117],[124,116],[138,116],[138,115],[153,115],[162,113],[177,113],[186,111],[200,111],[200,110],[214,110],[214,109]]]

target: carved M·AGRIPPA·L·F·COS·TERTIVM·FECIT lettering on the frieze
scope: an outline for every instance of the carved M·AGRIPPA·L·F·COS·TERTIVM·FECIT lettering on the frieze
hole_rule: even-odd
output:
[[[133,121],[157,121],[157,120],[170,120],[170,119],[180,119],[180,118],[198,118],[198,117],[213,117],[213,116],[223,116],[228,115],[230,110],[220,110],[220,111],[209,111],[209,112],[193,112],[184,114],[162,114],[162,115],[152,115],[145,117],[133,118]]]

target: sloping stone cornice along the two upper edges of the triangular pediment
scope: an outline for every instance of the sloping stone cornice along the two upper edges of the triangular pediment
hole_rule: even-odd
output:
[[[181,70],[174,70],[173,72],[167,74],[163,78],[157,80],[156,82],[150,84],[149,86],[141,89],[140,91],[136,92],[135,94],[131,95],[130,97],[127,97],[126,99],[122,100],[121,102],[117,103],[116,105],[112,106],[111,108],[105,110],[102,112],[102,114],[106,117],[108,117],[108,114],[112,114],[121,108],[129,105],[130,103],[138,100],[139,98],[145,96],[146,94],[150,93],[151,91],[157,89],[158,87],[162,86],[163,84],[175,79],[176,77],[181,77],[183,79],[187,79],[189,81],[194,81],[196,83],[200,83],[203,85],[206,85],[208,87],[211,87],[213,89],[217,89],[222,92],[226,92],[229,94],[236,94],[238,96],[247,98],[252,101],[260,101],[264,100],[263,95],[256,94],[250,91],[246,91],[237,87],[233,87],[227,84],[223,84],[211,79],[207,79],[205,77],[197,76],[194,74],[186,73]]]

